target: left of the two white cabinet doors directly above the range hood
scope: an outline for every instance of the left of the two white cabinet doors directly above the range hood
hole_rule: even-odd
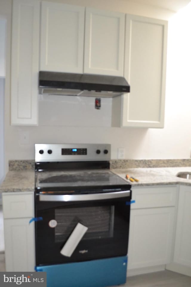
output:
[[[82,73],[84,7],[42,1],[40,70]]]

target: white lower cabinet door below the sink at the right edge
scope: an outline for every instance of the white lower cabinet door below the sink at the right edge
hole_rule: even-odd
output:
[[[190,186],[180,186],[174,262],[191,267],[191,187]]]

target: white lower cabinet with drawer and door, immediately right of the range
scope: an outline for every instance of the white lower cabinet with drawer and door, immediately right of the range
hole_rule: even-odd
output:
[[[176,186],[132,188],[127,274],[172,260]],[[134,271],[133,271],[134,269]],[[157,270],[157,269],[156,269]],[[133,271],[133,272],[132,272]]]

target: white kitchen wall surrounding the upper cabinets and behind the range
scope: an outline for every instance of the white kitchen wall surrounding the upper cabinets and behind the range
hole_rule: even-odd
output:
[[[110,99],[106,99],[106,101],[108,100],[108,107],[107,102],[103,101],[103,108],[96,111],[90,99],[83,99],[79,103],[79,98],[71,99],[68,102],[68,98],[64,100],[64,97],[60,99],[60,103],[58,97],[55,102],[52,101],[51,97],[40,98],[39,126],[10,126],[11,0],[1,0],[0,11],[2,11],[1,5],[3,4],[8,19],[5,99],[6,170],[9,159],[34,159],[35,143],[110,143],[113,159],[117,158],[118,147],[125,147],[126,158],[189,158],[191,149],[191,97],[189,94],[190,79],[185,67],[191,64],[189,58],[191,47],[187,39],[190,35],[188,28],[191,17],[190,19],[189,17],[179,19],[177,29],[172,12],[138,5],[127,0],[60,0],[58,2],[117,10],[159,19],[172,19],[169,24],[165,128],[111,128],[109,126]],[[185,35],[182,31],[185,31]],[[178,45],[178,43],[182,43],[182,45]],[[187,56],[184,61],[182,61],[183,55]]]

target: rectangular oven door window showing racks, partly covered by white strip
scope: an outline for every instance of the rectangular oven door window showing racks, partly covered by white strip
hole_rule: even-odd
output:
[[[82,240],[113,237],[114,205],[55,209],[55,242],[68,239],[79,223],[88,227]]]

